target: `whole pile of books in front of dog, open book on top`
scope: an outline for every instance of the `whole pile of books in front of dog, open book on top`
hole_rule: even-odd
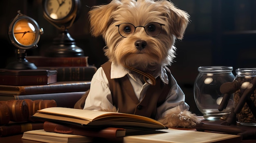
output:
[[[33,115],[44,120],[43,130],[24,132],[22,139],[47,143],[239,143],[242,136],[168,129],[148,117],[118,112],[45,108]],[[60,140],[61,139],[61,140]],[[103,139],[103,140],[99,140]]]

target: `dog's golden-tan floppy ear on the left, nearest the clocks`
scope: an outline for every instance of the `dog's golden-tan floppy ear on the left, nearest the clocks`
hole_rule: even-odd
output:
[[[89,11],[90,32],[93,36],[99,36],[106,32],[111,24],[111,13],[120,5],[118,0],[112,0],[109,4],[94,6]]]

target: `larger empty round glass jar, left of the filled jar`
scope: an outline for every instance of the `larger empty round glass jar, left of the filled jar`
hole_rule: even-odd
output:
[[[232,82],[235,76],[232,66],[200,66],[199,74],[195,79],[195,103],[204,119],[220,120],[220,117],[229,113],[233,108],[233,95],[227,102],[227,107],[222,111],[218,107],[223,99],[220,86],[225,82]]]

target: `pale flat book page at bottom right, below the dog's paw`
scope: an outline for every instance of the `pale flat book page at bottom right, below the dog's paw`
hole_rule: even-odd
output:
[[[242,137],[238,135],[198,132],[190,130],[157,130],[155,134],[149,134],[149,132],[150,131],[147,131],[147,134],[142,135],[125,136],[124,143],[212,143],[224,140],[230,143],[238,143],[242,141]]]

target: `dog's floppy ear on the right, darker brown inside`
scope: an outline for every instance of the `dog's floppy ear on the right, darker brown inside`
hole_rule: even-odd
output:
[[[162,1],[166,9],[166,17],[169,23],[170,31],[177,39],[182,39],[187,25],[189,24],[189,14],[178,9],[168,0]]]

